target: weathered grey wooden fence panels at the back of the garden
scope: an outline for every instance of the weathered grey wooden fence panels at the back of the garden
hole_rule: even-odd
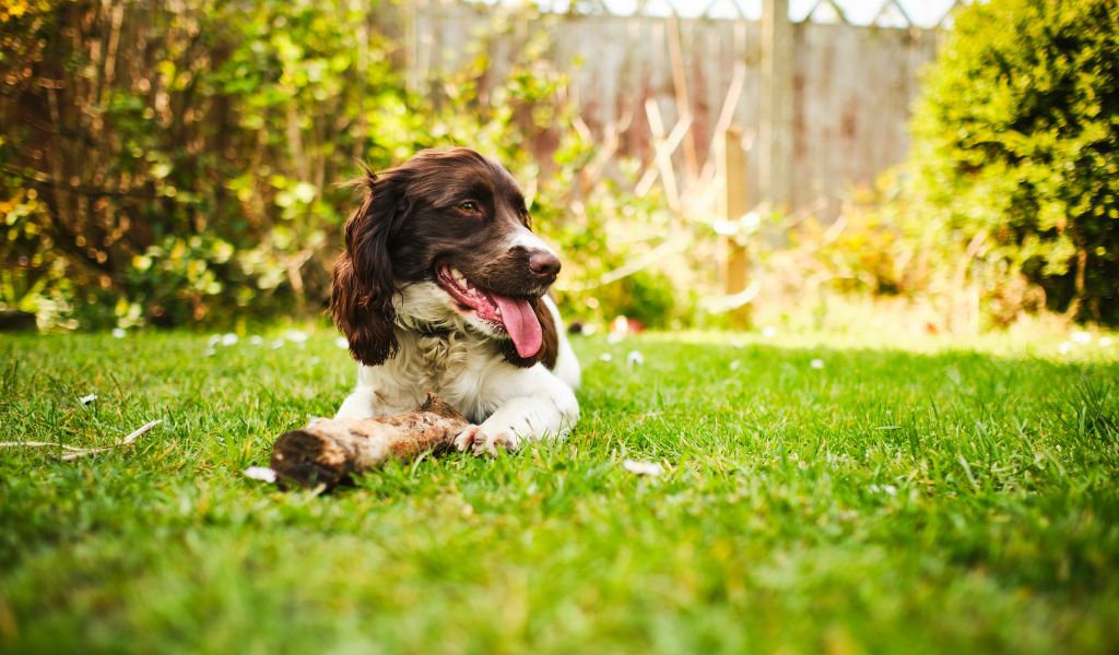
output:
[[[500,78],[527,35],[545,29],[546,56],[571,74],[586,129],[617,141],[618,154],[649,163],[659,152],[670,161],[675,179],[659,175],[677,187],[670,197],[685,202],[711,187],[720,133],[733,126],[746,151],[751,206],[834,215],[853,187],[904,158],[937,31],[793,22],[786,0],[765,7],[761,20],[568,12],[529,25],[516,12],[496,20],[502,7],[421,0],[404,25],[419,85],[459,68],[478,47],[492,61],[488,77]]]

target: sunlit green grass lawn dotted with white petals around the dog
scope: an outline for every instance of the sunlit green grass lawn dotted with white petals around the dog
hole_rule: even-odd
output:
[[[1119,648],[1117,347],[581,339],[567,442],[316,497],[241,472],[351,366],[273,338],[0,336],[3,438],[167,421],[0,452],[0,651]]]

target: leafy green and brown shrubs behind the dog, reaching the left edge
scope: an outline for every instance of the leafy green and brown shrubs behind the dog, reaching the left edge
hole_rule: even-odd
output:
[[[387,36],[397,11],[54,0],[0,16],[0,303],[69,326],[318,311],[356,206],[337,183],[359,160],[382,169],[460,142],[521,180],[565,279],[615,266],[626,250],[598,226],[628,198],[580,178],[594,149],[572,127],[565,76],[542,64],[546,30],[500,80],[480,54],[417,93]],[[486,34],[545,20],[513,11]]]

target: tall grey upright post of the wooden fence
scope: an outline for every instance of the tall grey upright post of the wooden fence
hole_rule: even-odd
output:
[[[792,209],[793,88],[796,67],[789,0],[762,2],[759,187],[773,209]]]

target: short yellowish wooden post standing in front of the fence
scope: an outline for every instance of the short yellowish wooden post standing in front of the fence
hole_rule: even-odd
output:
[[[742,130],[730,126],[720,135],[718,177],[723,181],[723,193],[720,196],[720,213],[723,219],[733,224],[742,224],[742,215],[749,209],[746,197],[746,153],[742,149]],[[746,277],[750,269],[750,253],[740,240],[741,237],[731,234],[726,238],[726,287],[727,296],[742,293],[746,288]],[[733,328],[750,328],[750,304],[732,310],[727,316]]]

